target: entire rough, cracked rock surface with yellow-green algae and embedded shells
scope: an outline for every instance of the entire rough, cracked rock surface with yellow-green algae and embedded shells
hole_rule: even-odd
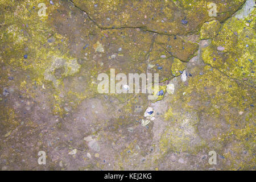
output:
[[[255,170],[252,2],[2,0],[0,169]],[[162,93],[100,94],[110,68]]]

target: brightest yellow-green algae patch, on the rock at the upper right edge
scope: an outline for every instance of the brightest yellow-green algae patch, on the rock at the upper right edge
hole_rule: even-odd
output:
[[[202,57],[205,63],[220,69],[229,77],[254,86],[255,9],[243,20],[235,16],[227,20],[218,34],[209,47],[203,48]],[[224,51],[218,51],[218,46],[224,47]]]

